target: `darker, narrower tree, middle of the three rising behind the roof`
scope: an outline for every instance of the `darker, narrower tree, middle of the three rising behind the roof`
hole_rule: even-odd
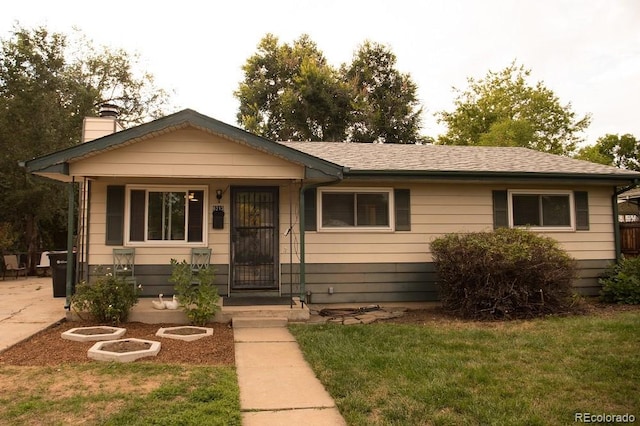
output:
[[[422,108],[417,86],[396,68],[388,47],[370,41],[343,66],[352,88],[349,139],[356,142],[415,143],[420,139]]]

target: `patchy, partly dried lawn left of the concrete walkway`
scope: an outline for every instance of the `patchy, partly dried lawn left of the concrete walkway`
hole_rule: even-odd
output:
[[[240,425],[233,367],[2,367],[0,424]]]

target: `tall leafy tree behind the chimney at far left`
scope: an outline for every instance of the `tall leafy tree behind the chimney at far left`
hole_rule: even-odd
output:
[[[66,189],[27,175],[19,161],[80,142],[82,121],[102,103],[120,107],[124,123],[162,110],[168,96],[150,75],[138,76],[136,57],[95,49],[91,42],[16,26],[0,47],[0,222],[20,236],[12,249],[51,248],[66,230]],[[62,232],[60,232],[62,231]]]

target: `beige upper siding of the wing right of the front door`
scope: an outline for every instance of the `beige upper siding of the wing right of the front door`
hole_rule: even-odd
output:
[[[356,187],[343,184],[344,187]],[[429,244],[447,233],[481,232],[493,229],[492,190],[496,185],[474,183],[390,183],[411,189],[411,231],[306,233],[307,263],[431,262]],[[509,189],[565,189],[589,192],[589,231],[543,232],[560,242],[577,260],[613,259],[611,188],[544,187],[513,185]]]

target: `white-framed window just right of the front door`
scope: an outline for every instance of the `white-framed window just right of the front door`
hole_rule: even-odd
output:
[[[318,223],[324,230],[391,230],[392,189],[321,189]]]

